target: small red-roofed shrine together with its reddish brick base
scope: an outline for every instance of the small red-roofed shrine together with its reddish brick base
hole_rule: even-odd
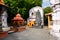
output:
[[[24,19],[21,17],[19,13],[16,14],[16,16],[13,18],[13,28],[11,28],[12,31],[23,31],[25,30],[25,26],[22,26],[24,23]]]

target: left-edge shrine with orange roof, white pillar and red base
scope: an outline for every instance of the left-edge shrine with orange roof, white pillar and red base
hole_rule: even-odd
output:
[[[0,38],[6,37],[10,30],[7,24],[7,9],[9,7],[4,4],[4,0],[0,0]]]

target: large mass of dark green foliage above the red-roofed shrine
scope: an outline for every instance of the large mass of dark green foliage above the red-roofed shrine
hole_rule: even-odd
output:
[[[13,18],[18,12],[24,19],[29,16],[29,9],[34,6],[41,6],[42,0],[4,0],[5,4],[10,6],[8,10],[9,17]]]

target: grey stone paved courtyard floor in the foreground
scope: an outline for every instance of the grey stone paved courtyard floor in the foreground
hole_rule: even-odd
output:
[[[29,28],[23,32],[9,34],[0,40],[57,40],[57,38],[49,35],[47,29]]]

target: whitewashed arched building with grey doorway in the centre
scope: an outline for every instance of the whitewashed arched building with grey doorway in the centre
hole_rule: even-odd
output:
[[[30,11],[29,11],[28,22],[29,21],[35,21],[36,26],[38,26],[38,25],[43,26],[44,25],[44,22],[43,22],[43,9],[39,6],[31,8]]]

